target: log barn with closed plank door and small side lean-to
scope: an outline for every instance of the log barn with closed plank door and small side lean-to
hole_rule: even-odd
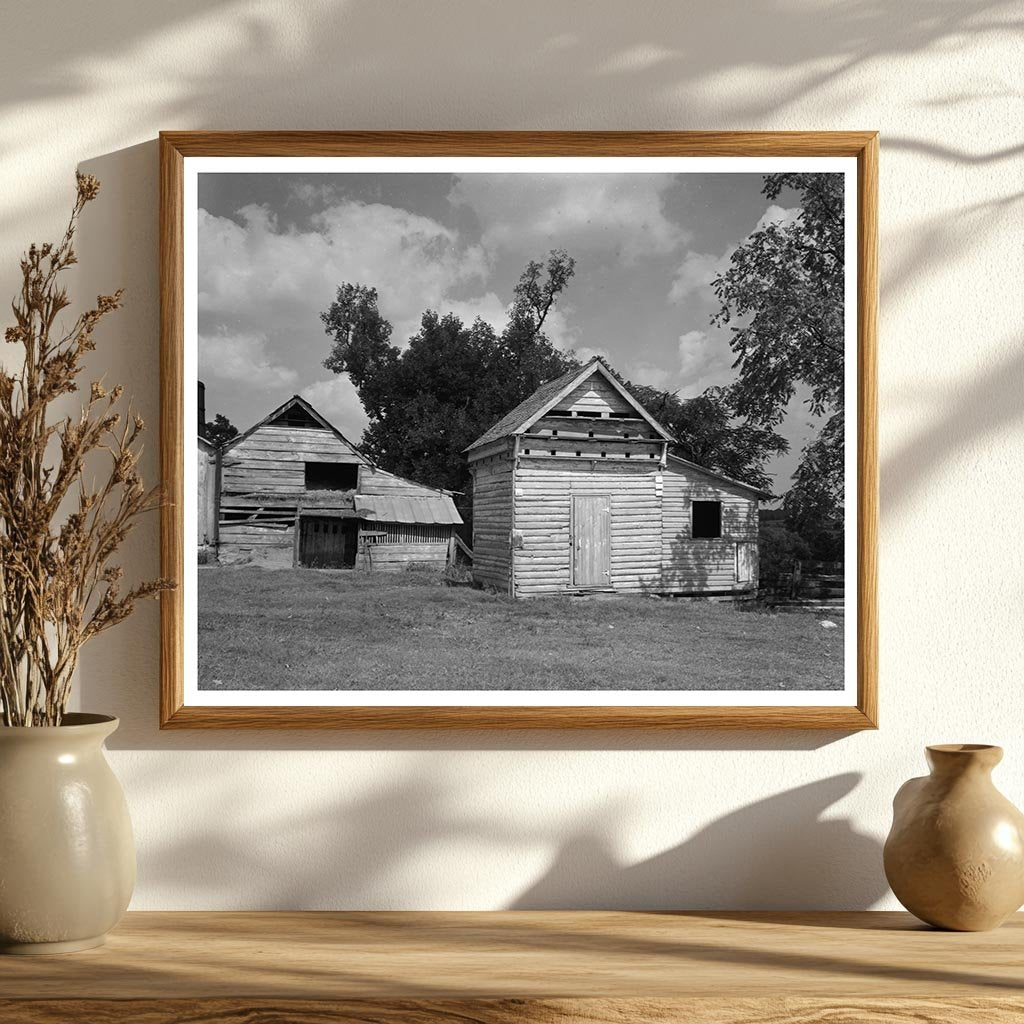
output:
[[[672,442],[600,358],[540,387],[467,449],[474,580],[514,597],[755,592],[769,496]]]

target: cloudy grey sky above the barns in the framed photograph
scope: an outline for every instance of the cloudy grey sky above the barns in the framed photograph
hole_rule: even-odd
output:
[[[549,318],[555,344],[604,355],[643,384],[698,394],[732,379],[710,282],[769,204],[759,174],[276,174],[199,176],[199,365],[207,417],[244,430],[302,394],[346,436],[366,416],[325,370],[319,312],[342,282],[372,285],[404,346],[425,309],[500,331],[530,259],[552,248],[575,276]],[[795,403],[793,451],[770,467],[785,489],[810,418]]]

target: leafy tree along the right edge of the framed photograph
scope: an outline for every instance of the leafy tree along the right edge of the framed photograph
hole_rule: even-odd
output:
[[[762,193],[800,194],[796,218],[755,231],[712,282],[721,307],[712,324],[732,326],[736,381],[729,400],[749,423],[778,425],[798,386],[815,416],[829,416],[801,458],[787,508],[838,515],[843,504],[844,206],[838,174],[769,174]],[[739,322],[733,324],[733,322]],[[811,510],[814,510],[813,513]]]

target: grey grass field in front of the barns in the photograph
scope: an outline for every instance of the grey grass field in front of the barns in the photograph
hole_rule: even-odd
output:
[[[200,686],[840,689],[843,629],[819,618],[648,597],[512,601],[427,571],[201,566]]]

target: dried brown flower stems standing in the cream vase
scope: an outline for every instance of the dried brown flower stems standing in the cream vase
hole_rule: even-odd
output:
[[[79,215],[99,182],[77,175],[78,196],[63,239],[33,245],[22,259],[11,308],[10,344],[25,349],[19,372],[0,370],[0,702],[3,724],[59,725],[82,645],[122,622],[135,602],[172,586],[166,580],[122,593],[111,559],[134,520],[159,504],[137,465],[144,429],[130,408],[115,412],[124,389],[93,381],[81,415],[48,421],[51,403],[79,390],[93,334],[118,309],[122,291],[100,295],[70,330],[57,318],[71,304],[59,274],[78,262]],[[105,482],[87,484],[85,462],[111,460]]]

